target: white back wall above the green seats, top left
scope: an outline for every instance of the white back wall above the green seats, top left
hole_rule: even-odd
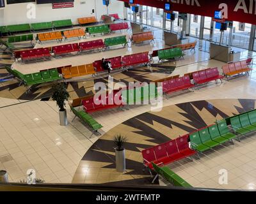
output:
[[[107,13],[106,6],[102,4],[102,0],[83,0],[86,3],[81,4],[81,0],[74,1],[73,8],[52,9],[52,4],[35,4],[36,18],[27,18],[27,6],[29,3],[5,4],[5,8],[0,10],[0,25],[24,24],[33,22],[47,22],[52,20],[71,19],[77,24],[77,18],[95,16],[100,20],[102,14]],[[118,13],[124,18],[124,2],[110,0],[109,14]],[[92,13],[92,10],[95,13]]]

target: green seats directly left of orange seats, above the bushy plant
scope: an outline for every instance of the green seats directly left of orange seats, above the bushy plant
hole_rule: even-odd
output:
[[[24,75],[24,85],[35,85],[42,84],[45,82],[53,82],[55,80],[61,80],[62,77],[59,75],[56,68],[47,69],[37,73]]]

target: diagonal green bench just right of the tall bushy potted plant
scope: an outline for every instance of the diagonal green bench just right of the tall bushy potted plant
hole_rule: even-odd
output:
[[[83,122],[88,124],[88,126],[90,126],[90,128],[92,128],[93,131],[97,132],[98,129],[103,127],[101,124],[99,124],[99,122],[94,120],[91,115],[84,112],[83,110],[76,110],[76,108],[72,107],[71,105],[70,105],[70,110],[72,110],[72,112],[74,113],[74,115],[76,115],[76,117],[79,117],[79,119],[81,119]]]

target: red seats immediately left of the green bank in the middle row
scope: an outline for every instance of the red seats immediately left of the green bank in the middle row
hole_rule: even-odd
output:
[[[106,97],[102,98],[100,95],[98,99],[94,100],[94,97],[83,100],[83,108],[87,113],[93,113],[100,110],[106,110],[109,108],[117,108],[123,106],[123,103],[117,104],[115,103],[115,98],[118,98],[118,101],[122,101],[122,94],[118,94],[119,90],[113,90],[113,97],[109,97],[108,93],[106,93]]]

